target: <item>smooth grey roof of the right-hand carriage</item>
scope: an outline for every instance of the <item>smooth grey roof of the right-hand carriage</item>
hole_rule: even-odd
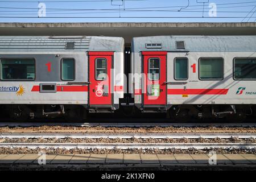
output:
[[[176,47],[179,42],[184,42],[184,49]],[[256,36],[147,36],[133,38],[132,49],[133,52],[254,52]]]

